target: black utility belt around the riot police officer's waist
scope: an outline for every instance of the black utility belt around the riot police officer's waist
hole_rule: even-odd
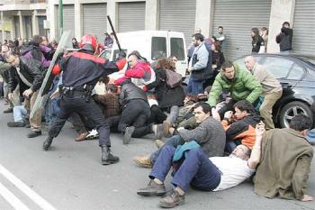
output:
[[[81,96],[85,98],[85,102],[89,102],[91,99],[93,88],[94,87],[88,86],[86,84],[83,87],[64,87],[60,85],[59,86],[60,97],[62,99],[64,96],[66,97]]]

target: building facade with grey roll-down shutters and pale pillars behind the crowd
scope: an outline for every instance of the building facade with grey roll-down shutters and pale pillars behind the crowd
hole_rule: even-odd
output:
[[[0,11],[2,8],[0,6]],[[31,18],[39,16],[40,11],[36,9]],[[275,36],[280,32],[282,23],[287,21],[293,27],[293,51],[314,55],[314,11],[314,0],[63,0],[63,30],[71,30],[77,40],[86,33],[93,33],[99,41],[103,41],[104,32],[111,32],[106,20],[106,15],[110,15],[117,32],[184,32],[186,43],[189,44],[196,28],[202,29],[206,37],[211,37],[216,35],[218,26],[223,26],[226,34],[225,56],[235,59],[251,52],[250,32],[254,27],[267,27],[268,52],[279,51]],[[8,35],[7,30],[11,30],[11,36],[16,37],[18,30],[14,28],[20,28],[24,37],[27,35],[25,24],[29,20],[23,18],[27,12],[20,9],[2,13],[4,16],[14,13],[11,16],[15,18],[11,26],[4,21],[3,36]],[[58,0],[48,1],[47,17],[49,38],[56,39],[60,32]],[[32,34],[34,32],[39,31],[32,30]]]

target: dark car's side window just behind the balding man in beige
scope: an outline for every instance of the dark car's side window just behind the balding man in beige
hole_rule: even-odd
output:
[[[293,61],[290,59],[266,58],[264,66],[275,76],[275,78],[287,78],[291,68],[293,68]]]

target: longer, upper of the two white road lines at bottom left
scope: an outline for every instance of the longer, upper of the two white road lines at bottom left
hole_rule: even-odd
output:
[[[43,210],[57,210],[54,206],[50,205],[44,198],[35,193],[30,187],[25,185],[23,181],[16,178],[9,170],[5,169],[0,164],[0,174],[7,178],[15,187],[18,187],[26,196],[30,197],[33,202],[40,206]],[[27,208],[28,209],[28,208]]]

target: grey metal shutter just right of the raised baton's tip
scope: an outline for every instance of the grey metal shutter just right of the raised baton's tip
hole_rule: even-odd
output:
[[[118,3],[118,32],[144,30],[145,2]]]

